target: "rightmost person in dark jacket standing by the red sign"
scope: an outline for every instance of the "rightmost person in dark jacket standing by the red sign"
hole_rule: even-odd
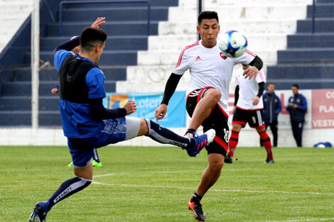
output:
[[[305,113],[307,111],[307,101],[305,96],[298,93],[298,89],[298,84],[294,84],[291,87],[293,96],[289,98],[289,103],[288,106],[286,106],[286,110],[290,113],[293,138],[295,138],[297,146],[301,147],[303,124],[305,122]]]

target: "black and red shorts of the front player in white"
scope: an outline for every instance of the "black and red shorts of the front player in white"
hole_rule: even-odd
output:
[[[193,116],[193,112],[195,110],[195,106],[198,104],[198,101],[203,98],[203,94],[205,91],[212,87],[205,87],[203,89],[195,89],[190,92],[187,96],[187,102],[185,108],[190,117]],[[212,88],[213,89],[213,88]],[[223,156],[226,156],[228,150],[228,135],[229,135],[229,127],[228,127],[228,115],[218,104],[212,108],[211,114],[208,118],[203,121],[203,131],[206,132],[210,130],[210,128],[215,129],[216,136],[213,139],[213,142],[207,145],[205,148],[208,151],[208,155],[210,153],[218,153]]]

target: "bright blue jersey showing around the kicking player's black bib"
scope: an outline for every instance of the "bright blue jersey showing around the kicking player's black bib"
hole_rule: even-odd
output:
[[[66,57],[74,55],[67,50],[55,52],[55,69],[59,71]],[[92,60],[76,55],[79,60]],[[94,62],[93,62],[94,63]],[[93,67],[86,74],[89,99],[102,99],[106,96],[104,90],[104,74],[98,67]],[[104,122],[96,121],[90,114],[90,104],[77,104],[64,99],[59,99],[60,115],[62,119],[64,135],[68,138],[89,138],[97,135],[104,128]]]

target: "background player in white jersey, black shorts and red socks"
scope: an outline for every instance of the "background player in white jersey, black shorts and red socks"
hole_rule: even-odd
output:
[[[262,94],[264,91],[264,82],[266,79],[262,71],[259,71],[256,79],[244,79],[243,72],[248,68],[242,65],[235,71],[235,107],[233,109],[232,133],[229,140],[229,152],[225,157],[226,163],[233,162],[233,155],[239,140],[239,132],[246,123],[250,127],[256,128],[261,141],[266,148],[266,163],[274,163],[274,158],[271,150],[271,141],[266,133],[264,121],[262,121],[263,100]]]

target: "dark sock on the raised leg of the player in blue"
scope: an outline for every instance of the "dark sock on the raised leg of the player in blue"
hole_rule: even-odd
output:
[[[146,123],[149,127],[149,133],[146,136],[149,136],[152,140],[156,140],[158,143],[177,145],[181,148],[191,148],[195,145],[193,139],[178,135],[149,119],[146,119]]]

